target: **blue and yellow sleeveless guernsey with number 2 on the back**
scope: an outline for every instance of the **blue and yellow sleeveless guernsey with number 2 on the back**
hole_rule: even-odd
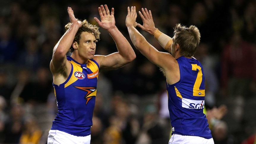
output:
[[[177,58],[180,80],[166,83],[168,108],[172,134],[212,138],[206,115],[203,113],[205,100],[205,77],[203,67],[195,58]]]

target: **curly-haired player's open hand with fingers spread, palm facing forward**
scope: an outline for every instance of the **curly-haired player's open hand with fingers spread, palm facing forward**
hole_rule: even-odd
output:
[[[111,9],[111,14],[106,4],[104,6],[101,5],[100,7],[98,7],[98,10],[99,10],[99,16],[101,20],[99,20],[96,17],[94,19],[99,24],[99,26],[106,30],[115,28],[116,21],[114,17],[114,8]]]

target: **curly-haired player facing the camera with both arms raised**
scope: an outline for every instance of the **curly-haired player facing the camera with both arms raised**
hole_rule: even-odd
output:
[[[71,7],[67,8],[70,22],[53,48],[50,62],[58,113],[49,131],[48,144],[90,144],[98,75],[101,71],[123,67],[136,58],[132,46],[116,27],[114,8],[110,12],[107,5],[101,5],[98,10],[100,20],[94,19],[108,31],[117,50],[108,55],[95,55],[96,43],[100,39],[99,26],[86,19],[76,19]],[[67,55],[67,52],[72,54]],[[93,91],[81,97],[87,91],[85,88]]]

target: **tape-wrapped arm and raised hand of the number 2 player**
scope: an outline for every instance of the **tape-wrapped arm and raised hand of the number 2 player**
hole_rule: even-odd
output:
[[[171,45],[173,43],[173,39],[166,34],[162,33],[155,27],[155,23],[152,17],[151,10],[141,9],[141,12],[139,11],[140,17],[142,19],[143,25],[138,23],[138,27],[141,28],[142,30],[152,34],[154,38],[157,40],[157,42],[167,50],[168,52],[171,53]]]

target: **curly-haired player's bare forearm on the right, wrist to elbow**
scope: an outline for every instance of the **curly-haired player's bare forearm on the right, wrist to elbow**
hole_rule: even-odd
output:
[[[108,32],[115,41],[119,54],[127,60],[133,60],[136,57],[135,52],[132,49],[132,46],[130,45],[128,40],[118,30],[118,28],[115,27]]]

